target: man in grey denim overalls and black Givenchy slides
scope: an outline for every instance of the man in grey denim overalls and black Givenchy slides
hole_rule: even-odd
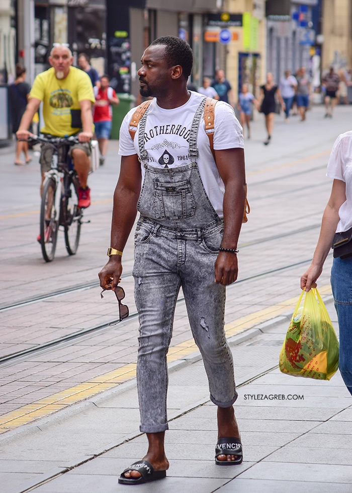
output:
[[[212,107],[186,86],[192,64],[192,50],[181,38],[153,41],[138,75],[140,93],[154,99],[146,102],[147,109],[129,111],[120,132],[110,258],[99,277],[103,289],[118,287],[122,251],[138,211],[133,268],[140,323],[137,388],[140,430],[149,442],[143,460],[122,472],[119,482],[126,484],[165,477],[169,467],[164,451],[166,354],[181,287],[210,399],[218,406],[216,464],[242,462],[224,303],[226,286],[234,283],[238,271],[245,201],[243,136],[233,109],[218,102],[214,159],[204,120],[204,108],[211,112]]]

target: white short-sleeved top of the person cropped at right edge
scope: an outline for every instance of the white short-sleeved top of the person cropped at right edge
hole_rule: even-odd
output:
[[[344,181],[346,200],[339,208],[336,233],[352,228],[352,130],[341,133],[332,147],[326,176]]]

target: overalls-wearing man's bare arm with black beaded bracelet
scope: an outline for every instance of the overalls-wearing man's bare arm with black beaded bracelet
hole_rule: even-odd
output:
[[[240,148],[215,151],[215,158],[225,185],[222,247],[236,249],[245,201],[244,151]],[[215,282],[224,286],[232,284],[237,279],[237,273],[237,255],[220,252],[215,262]]]

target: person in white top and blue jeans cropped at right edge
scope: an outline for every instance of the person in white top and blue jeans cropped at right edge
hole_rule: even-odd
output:
[[[334,250],[331,288],[339,328],[338,367],[352,394],[352,131],[339,135],[333,145],[326,176],[333,179],[329,201],[325,207],[319,240],[308,270],[301,277],[301,288],[309,291],[323,270],[331,245]],[[336,237],[335,237],[336,233]],[[347,240],[346,240],[347,239]],[[349,241],[348,241],[349,239]],[[338,251],[342,250],[342,251]],[[340,256],[341,255],[341,256]]]

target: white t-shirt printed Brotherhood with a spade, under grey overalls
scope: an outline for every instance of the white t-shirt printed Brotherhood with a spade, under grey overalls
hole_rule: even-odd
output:
[[[148,152],[149,164],[155,168],[169,168],[185,166],[192,162],[188,156],[191,125],[195,112],[204,98],[203,95],[190,91],[191,97],[182,106],[172,109],[160,108],[156,99],[149,106],[149,112],[145,127],[144,145]],[[138,154],[138,129],[134,140],[129,134],[128,128],[135,108],[125,116],[120,129],[121,156]],[[242,127],[235,117],[232,107],[219,101],[215,106],[215,131],[214,149],[243,149]],[[199,125],[197,147],[199,157],[197,165],[205,188],[205,191],[219,217],[223,217],[222,202],[224,197],[224,183],[219,175],[210,150],[209,137],[205,132],[205,123],[202,115]],[[232,163],[231,163],[232,164]],[[142,179],[144,179],[144,166]]]

